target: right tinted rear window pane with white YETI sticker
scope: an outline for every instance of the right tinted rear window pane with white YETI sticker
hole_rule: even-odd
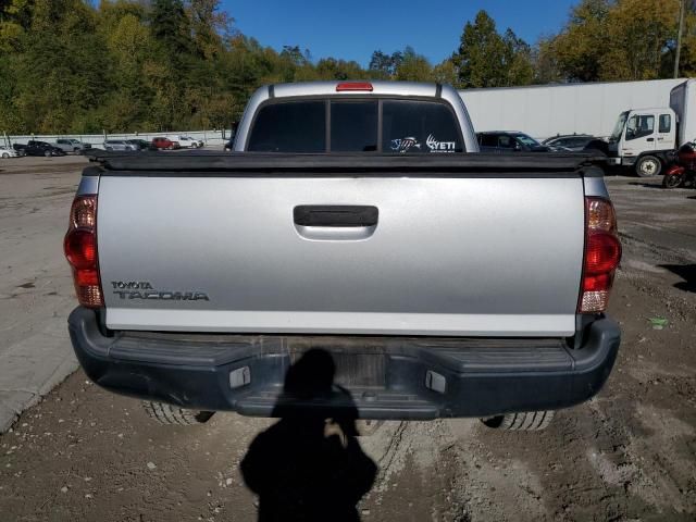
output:
[[[459,126],[443,103],[385,100],[382,108],[384,152],[462,152]]]

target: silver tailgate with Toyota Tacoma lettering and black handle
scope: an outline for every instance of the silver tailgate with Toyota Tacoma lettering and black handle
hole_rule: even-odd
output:
[[[567,336],[581,176],[102,176],[114,330]]]

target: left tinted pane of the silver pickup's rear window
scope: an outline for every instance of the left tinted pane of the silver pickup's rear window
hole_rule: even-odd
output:
[[[253,122],[247,149],[257,152],[324,152],[326,104],[318,100],[262,107]]]

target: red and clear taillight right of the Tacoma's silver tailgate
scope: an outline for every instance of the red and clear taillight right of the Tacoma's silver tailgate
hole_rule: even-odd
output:
[[[580,313],[606,310],[613,274],[621,260],[621,243],[617,235],[617,217],[610,201],[585,198],[585,256]]]

